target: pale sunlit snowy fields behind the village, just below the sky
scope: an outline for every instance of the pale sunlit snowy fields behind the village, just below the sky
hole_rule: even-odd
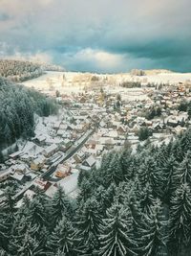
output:
[[[79,79],[81,76],[82,79]],[[58,90],[62,94],[72,94],[84,91],[84,73],[76,72],[47,72],[47,74],[30,80],[24,81],[23,84],[28,87],[34,87],[46,94],[54,95]],[[104,78],[107,75],[98,75],[99,78]],[[147,100],[147,94],[142,88],[129,89],[119,87],[118,84],[122,81],[142,81],[154,83],[169,83],[174,84],[178,82],[191,82],[191,73],[160,73],[149,76],[131,76],[130,74],[114,74],[108,75],[109,80],[113,79],[112,85],[106,85],[104,88],[113,94],[119,93],[122,100],[136,101]],[[104,84],[104,83],[103,83]],[[104,84],[105,85],[105,84]]]

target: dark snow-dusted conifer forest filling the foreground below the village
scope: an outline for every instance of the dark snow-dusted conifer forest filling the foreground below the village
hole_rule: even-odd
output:
[[[61,188],[0,208],[0,255],[189,256],[191,130],[160,147],[104,155],[81,172],[76,205]],[[75,206],[74,206],[75,205]]]

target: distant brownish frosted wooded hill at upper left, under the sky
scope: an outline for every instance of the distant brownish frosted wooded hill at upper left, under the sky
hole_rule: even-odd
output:
[[[0,59],[0,76],[11,81],[27,81],[43,74],[39,64],[23,60]]]

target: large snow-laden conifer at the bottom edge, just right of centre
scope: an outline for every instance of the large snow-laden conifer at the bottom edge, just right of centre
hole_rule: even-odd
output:
[[[99,256],[136,255],[136,244],[132,234],[132,219],[121,205],[115,203],[107,211],[101,225]]]

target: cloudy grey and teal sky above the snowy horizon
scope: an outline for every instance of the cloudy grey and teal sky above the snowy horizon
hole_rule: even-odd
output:
[[[190,0],[0,0],[0,58],[191,72]]]

